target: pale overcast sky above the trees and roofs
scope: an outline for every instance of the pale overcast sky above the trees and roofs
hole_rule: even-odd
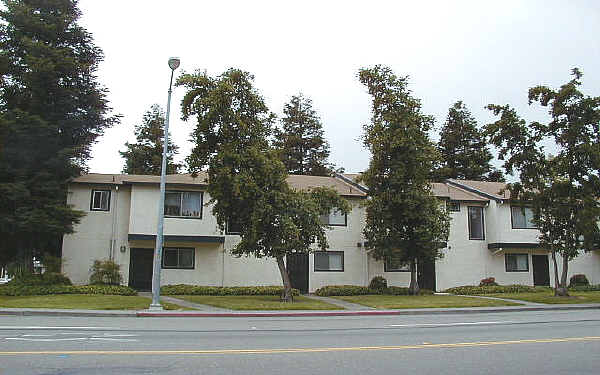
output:
[[[439,129],[462,100],[480,125],[489,103],[511,104],[527,120],[545,118],[527,105],[527,89],[558,87],[582,69],[583,90],[600,95],[600,1],[123,1],[80,0],[81,24],[105,54],[99,79],[120,125],[93,149],[90,172],[120,173],[118,151],[154,103],[166,107],[170,56],[176,73],[229,67],[255,75],[271,110],[298,92],[313,100],[331,145],[331,161],[364,170],[362,125],[370,102],[359,68],[390,66]],[[176,88],[170,130],[179,159],[194,126],[180,119]],[[437,131],[432,134],[437,140]]]

